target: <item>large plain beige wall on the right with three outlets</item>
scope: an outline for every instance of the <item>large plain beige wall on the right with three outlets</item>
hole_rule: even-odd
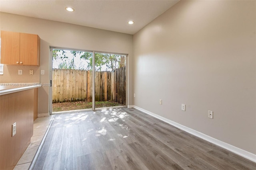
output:
[[[256,1],[180,1],[149,23],[134,35],[134,93],[135,106],[256,154]]]

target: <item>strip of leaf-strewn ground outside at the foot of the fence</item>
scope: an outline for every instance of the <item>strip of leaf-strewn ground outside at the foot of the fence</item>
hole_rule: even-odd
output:
[[[122,106],[117,102],[95,102],[95,108],[99,107],[112,107],[112,106]],[[78,109],[91,109],[92,102],[63,102],[63,103],[53,103],[52,111],[67,111],[67,110],[78,110]]]

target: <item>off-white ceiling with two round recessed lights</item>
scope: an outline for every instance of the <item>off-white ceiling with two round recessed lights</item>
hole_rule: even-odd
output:
[[[0,12],[134,34],[178,1],[0,0]],[[67,6],[75,11],[66,11]]]

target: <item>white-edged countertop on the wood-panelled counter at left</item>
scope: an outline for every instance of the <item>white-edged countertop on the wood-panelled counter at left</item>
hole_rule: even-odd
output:
[[[41,86],[40,83],[0,83],[0,96]]]

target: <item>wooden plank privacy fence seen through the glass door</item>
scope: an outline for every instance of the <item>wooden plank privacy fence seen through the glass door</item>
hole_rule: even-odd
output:
[[[92,102],[92,71],[52,69],[52,102]],[[95,101],[126,103],[126,67],[95,72]]]

